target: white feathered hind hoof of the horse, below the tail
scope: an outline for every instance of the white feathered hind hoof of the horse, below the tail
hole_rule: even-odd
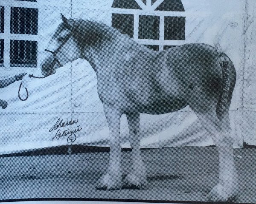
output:
[[[212,188],[208,195],[209,201],[227,202],[233,201],[236,198],[236,190],[228,189],[223,184],[219,183]]]

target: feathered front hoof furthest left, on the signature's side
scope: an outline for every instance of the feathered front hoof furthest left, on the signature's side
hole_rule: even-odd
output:
[[[112,179],[109,174],[103,175],[96,183],[96,190],[118,190],[121,189],[121,176]],[[118,181],[119,180],[119,181]]]

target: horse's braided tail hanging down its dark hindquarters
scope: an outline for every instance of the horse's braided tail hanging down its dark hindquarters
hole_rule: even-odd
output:
[[[230,80],[228,75],[228,58],[224,53],[220,53],[219,57],[220,65],[222,69],[222,90],[221,90],[221,97],[219,99],[219,110],[224,111],[225,106],[227,104],[229,89],[230,89]]]

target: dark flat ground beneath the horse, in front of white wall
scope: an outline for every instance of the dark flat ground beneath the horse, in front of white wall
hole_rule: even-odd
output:
[[[235,149],[241,191],[235,202],[256,203],[256,149]],[[215,147],[142,150],[148,173],[143,190],[95,190],[108,168],[109,152],[0,158],[0,200],[17,198],[114,198],[207,201],[218,183]],[[131,171],[131,151],[122,152],[123,178]]]

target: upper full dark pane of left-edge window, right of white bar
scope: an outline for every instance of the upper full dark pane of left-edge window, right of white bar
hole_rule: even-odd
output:
[[[38,34],[38,8],[11,7],[11,33]]]

